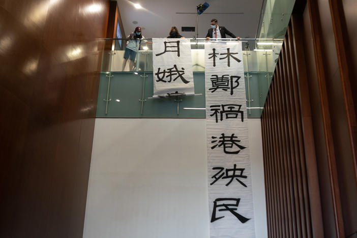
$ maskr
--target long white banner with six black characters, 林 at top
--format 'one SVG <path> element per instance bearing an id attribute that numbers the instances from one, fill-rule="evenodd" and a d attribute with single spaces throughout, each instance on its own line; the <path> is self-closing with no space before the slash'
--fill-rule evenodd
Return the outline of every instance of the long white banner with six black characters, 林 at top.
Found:
<path id="1" fill-rule="evenodd" d="M 255 237 L 241 42 L 205 45 L 211 237 Z"/>

